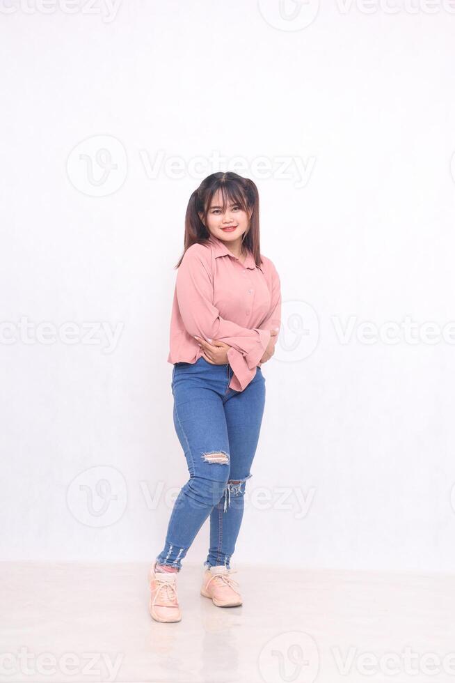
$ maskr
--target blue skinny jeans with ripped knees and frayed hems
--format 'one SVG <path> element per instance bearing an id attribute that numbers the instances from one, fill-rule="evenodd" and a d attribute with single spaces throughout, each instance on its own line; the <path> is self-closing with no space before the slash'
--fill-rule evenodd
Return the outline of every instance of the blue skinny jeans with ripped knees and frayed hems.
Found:
<path id="1" fill-rule="evenodd" d="M 231 389 L 231 378 L 229 363 L 214 365 L 202 356 L 195 363 L 174 364 L 174 425 L 190 478 L 175 500 L 157 562 L 177 571 L 209 515 L 210 547 L 204 567 L 230 569 L 266 393 L 260 367 L 244 391 Z"/>

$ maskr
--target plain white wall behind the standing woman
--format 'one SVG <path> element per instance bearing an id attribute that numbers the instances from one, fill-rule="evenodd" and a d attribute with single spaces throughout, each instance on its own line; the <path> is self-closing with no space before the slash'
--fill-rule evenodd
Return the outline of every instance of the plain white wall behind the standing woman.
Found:
<path id="1" fill-rule="evenodd" d="M 235 560 L 452 570 L 455 8 L 0 4 L 1 557 L 161 551 L 173 266 L 189 195 L 232 169 L 283 296 Z"/>

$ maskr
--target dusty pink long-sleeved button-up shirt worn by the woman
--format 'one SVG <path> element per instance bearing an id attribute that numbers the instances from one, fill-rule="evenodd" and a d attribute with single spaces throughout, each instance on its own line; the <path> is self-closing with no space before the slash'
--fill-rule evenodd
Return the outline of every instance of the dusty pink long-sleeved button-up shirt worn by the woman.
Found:
<path id="1" fill-rule="evenodd" d="M 261 367 L 270 330 L 280 328 L 280 277 L 270 259 L 258 268 L 248 251 L 242 264 L 225 244 L 211 235 L 207 244 L 193 244 L 177 269 L 170 319 L 168 362 L 195 363 L 202 355 L 194 335 L 218 339 L 232 348 L 231 389 L 243 391 Z M 278 335 L 272 337 L 276 344 Z"/>

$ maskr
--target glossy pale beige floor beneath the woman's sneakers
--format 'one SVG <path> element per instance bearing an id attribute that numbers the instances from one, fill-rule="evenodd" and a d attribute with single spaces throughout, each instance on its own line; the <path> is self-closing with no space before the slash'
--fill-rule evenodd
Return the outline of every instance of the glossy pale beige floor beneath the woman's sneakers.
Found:
<path id="1" fill-rule="evenodd" d="M 243 606 L 214 606 L 186 565 L 182 621 L 159 624 L 146 565 L 3 562 L 0 680 L 455 680 L 455 576 L 237 569 Z"/>

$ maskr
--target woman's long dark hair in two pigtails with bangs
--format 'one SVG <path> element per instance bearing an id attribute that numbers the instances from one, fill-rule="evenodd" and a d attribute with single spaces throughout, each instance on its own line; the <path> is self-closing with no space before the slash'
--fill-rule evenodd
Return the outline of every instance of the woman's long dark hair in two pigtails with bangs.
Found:
<path id="1" fill-rule="evenodd" d="M 232 201 L 232 204 L 237 204 L 248 214 L 253 209 L 250 227 L 242 235 L 242 248 L 246 247 L 246 249 L 252 252 L 256 266 L 261 265 L 259 192 L 257 192 L 257 187 L 250 178 L 243 178 L 237 175 L 237 173 L 227 171 L 226 173 L 212 173 L 211 176 L 207 176 L 200 183 L 198 189 L 194 190 L 193 194 L 191 194 L 185 215 L 184 252 L 180 256 L 175 268 L 179 268 L 186 250 L 191 245 L 208 242 L 211 233 L 200 220 L 199 214 L 202 213 L 204 220 L 207 221 L 211 199 L 218 190 L 221 190 L 221 196 L 223 197 L 223 211 L 225 211 L 228 201 Z"/>

